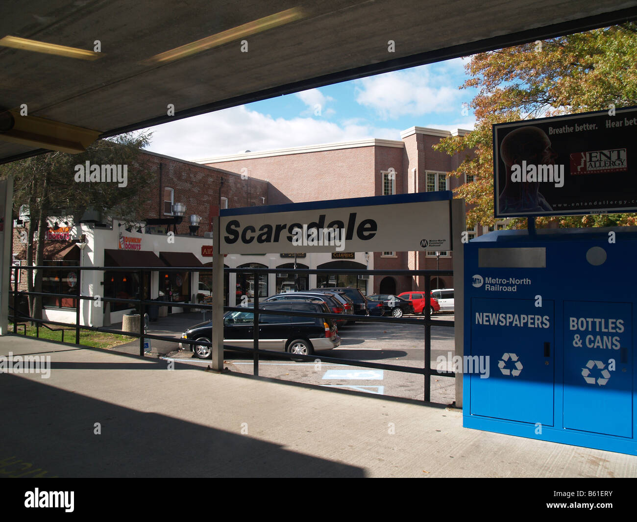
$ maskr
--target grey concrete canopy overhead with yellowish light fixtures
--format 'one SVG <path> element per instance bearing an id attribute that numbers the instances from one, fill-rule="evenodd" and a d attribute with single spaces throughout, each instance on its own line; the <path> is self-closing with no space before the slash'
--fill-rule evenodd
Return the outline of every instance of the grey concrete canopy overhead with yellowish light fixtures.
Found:
<path id="1" fill-rule="evenodd" d="M 0 107 L 26 104 L 29 116 L 108 137 L 634 19 L 637 0 L 22 0 L 0 7 L 0 39 L 90 52 L 99 40 L 101 54 L 78 59 L 0 40 Z M 41 152 L 0 134 L 0 163 Z"/>

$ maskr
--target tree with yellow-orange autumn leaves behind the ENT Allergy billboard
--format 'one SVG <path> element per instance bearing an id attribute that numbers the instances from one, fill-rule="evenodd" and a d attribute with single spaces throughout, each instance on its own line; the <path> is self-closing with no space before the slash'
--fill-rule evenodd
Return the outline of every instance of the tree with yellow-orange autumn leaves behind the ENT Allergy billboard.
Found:
<path id="1" fill-rule="evenodd" d="M 464 198 L 467 224 L 494 224 L 492 124 L 564 113 L 637 105 L 637 24 L 614 25 L 536 43 L 473 55 L 471 78 L 460 89 L 476 87 L 471 106 L 475 130 L 445 138 L 436 150 L 464 154 L 454 171 L 475 182 L 455 192 Z M 467 153 L 475 150 L 475 154 Z M 526 226 L 526 219 L 512 226 Z M 635 214 L 541 217 L 538 227 L 635 225 Z"/>

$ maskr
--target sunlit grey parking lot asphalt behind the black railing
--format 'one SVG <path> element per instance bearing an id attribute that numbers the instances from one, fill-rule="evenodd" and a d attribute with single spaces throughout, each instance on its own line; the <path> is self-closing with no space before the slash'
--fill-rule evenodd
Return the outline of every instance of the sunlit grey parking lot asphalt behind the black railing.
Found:
<path id="1" fill-rule="evenodd" d="M 207 315 L 210 317 L 210 314 Z M 422 319 L 422 315 L 408 316 Z M 202 313 L 172 314 L 151 322 L 148 333 L 179 338 L 182 331 L 203 321 Z M 434 321 L 453 321 L 449 313 L 434 314 Z M 423 323 L 424 324 L 424 323 Z M 115 326 L 114 326 L 115 327 Z M 116 327 L 115 327 L 116 328 Z M 424 400 L 422 375 L 378 370 L 355 363 L 322 362 L 321 356 L 357 361 L 375 361 L 389 365 L 424 366 L 424 326 L 358 322 L 339 327 L 341 346 L 315 354 L 314 362 L 295 362 L 275 356 L 260 355 L 259 375 L 285 381 L 316 384 L 331 388 L 354 389 L 377 395 Z M 209 361 L 197 359 L 192 352 L 179 351 L 176 342 L 151 340 L 152 354 L 168 360 L 206 367 Z M 432 326 L 431 367 L 439 356 L 454 354 L 454 328 Z M 130 354 L 139 353 L 137 341 L 113 348 Z M 252 354 L 225 351 L 225 366 L 237 373 L 253 375 Z M 451 405 L 455 401 L 454 377 L 431 377 L 431 402 Z"/>

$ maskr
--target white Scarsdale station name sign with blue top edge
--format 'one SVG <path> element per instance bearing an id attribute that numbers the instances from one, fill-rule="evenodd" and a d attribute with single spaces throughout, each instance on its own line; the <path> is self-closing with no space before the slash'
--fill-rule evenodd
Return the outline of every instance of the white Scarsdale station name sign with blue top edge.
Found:
<path id="1" fill-rule="evenodd" d="M 314 201 L 220 213 L 221 252 L 451 250 L 452 193 Z"/>

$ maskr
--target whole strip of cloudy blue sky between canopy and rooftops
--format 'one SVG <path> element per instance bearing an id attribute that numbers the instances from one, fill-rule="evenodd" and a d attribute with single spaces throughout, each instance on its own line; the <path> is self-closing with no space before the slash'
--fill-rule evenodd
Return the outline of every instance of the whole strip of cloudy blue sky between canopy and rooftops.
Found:
<path id="1" fill-rule="evenodd" d="M 413 126 L 473 129 L 464 61 L 328 85 L 152 127 L 148 150 L 190 161 L 251 150 L 384 138 Z"/>

